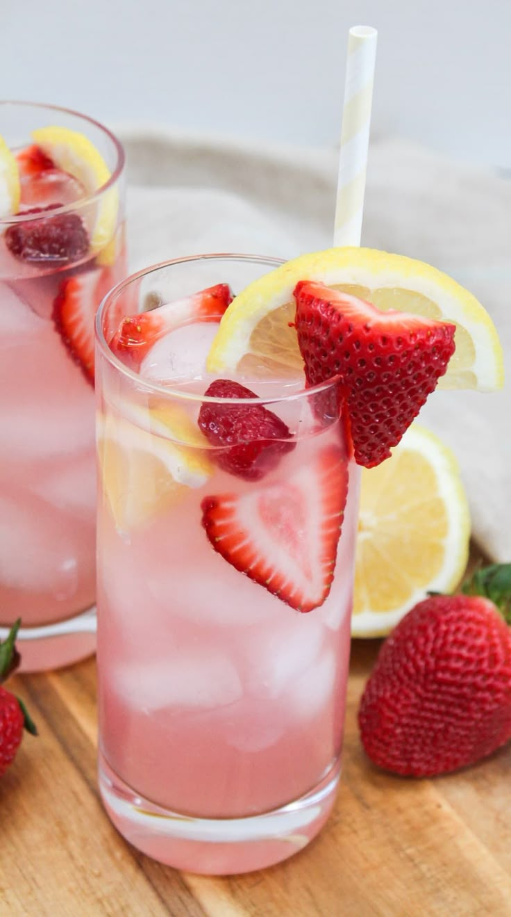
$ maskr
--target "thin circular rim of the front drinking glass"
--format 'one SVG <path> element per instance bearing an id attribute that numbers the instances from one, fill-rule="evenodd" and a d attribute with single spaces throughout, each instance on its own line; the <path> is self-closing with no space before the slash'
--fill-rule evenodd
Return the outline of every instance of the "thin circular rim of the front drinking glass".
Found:
<path id="1" fill-rule="evenodd" d="M 153 394 L 164 395 L 168 399 L 180 399 L 183 402 L 206 402 L 215 404 L 278 404 L 282 402 L 299 401 L 299 399 L 308 398 L 310 395 L 318 394 L 318 392 L 326 392 L 338 384 L 340 377 L 332 376 L 332 379 L 324 382 L 319 382 L 318 384 L 313 385 L 308 389 L 302 388 L 299 390 L 299 392 L 291 392 L 288 394 L 271 396 L 257 395 L 255 398 L 218 398 L 214 395 L 200 394 L 198 392 L 186 392 L 182 389 L 173 388 L 169 385 L 158 385 L 157 382 L 144 379 L 137 372 L 130 370 L 122 360 L 118 359 L 108 346 L 108 342 L 103 334 L 103 316 L 108 306 L 114 302 L 116 296 L 119 295 L 119 293 L 122 293 L 122 291 L 125 290 L 125 288 L 128 287 L 130 283 L 136 282 L 142 277 L 146 277 L 147 274 L 155 273 L 156 271 L 160 271 L 163 268 L 170 268 L 177 264 L 187 264 L 192 261 L 208 260 L 247 261 L 252 264 L 273 265 L 276 268 L 286 263 L 286 260 L 275 258 L 271 255 L 252 255 L 239 252 L 212 252 L 211 254 L 187 255 L 182 258 L 173 258 L 168 261 L 159 261 L 157 264 L 152 264 L 147 268 L 143 268 L 141 271 L 136 271 L 136 273 L 130 274 L 129 277 L 125 278 L 125 280 L 116 283 L 115 286 L 112 287 L 112 289 L 109 290 L 105 296 L 103 296 L 103 300 L 98 307 L 94 321 L 96 348 L 99 348 L 104 359 L 107 360 L 107 362 L 114 368 L 114 370 L 120 372 L 121 375 L 125 376 L 126 379 L 135 382 L 139 392 L 150 392 Z"/>

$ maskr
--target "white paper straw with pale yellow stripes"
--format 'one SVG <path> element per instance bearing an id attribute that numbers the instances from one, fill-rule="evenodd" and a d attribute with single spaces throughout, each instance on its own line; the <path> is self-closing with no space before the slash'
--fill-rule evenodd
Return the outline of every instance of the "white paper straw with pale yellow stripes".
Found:
<path id="1" fill-rule="evenodd" d="M 333 231 L 335 246 L 360 245 L 377 34 L 375 28 L 353 26 L 348 38 Z"/>

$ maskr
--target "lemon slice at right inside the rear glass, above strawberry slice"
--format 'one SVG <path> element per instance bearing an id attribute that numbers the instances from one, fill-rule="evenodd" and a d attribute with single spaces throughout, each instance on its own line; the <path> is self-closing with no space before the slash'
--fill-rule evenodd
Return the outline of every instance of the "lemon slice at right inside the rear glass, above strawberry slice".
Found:
<path id="1" fill-rule="evenodd" d="M 91 140 L 69 127 L 39 127 L 32 137 L 44 153 L 62 171 L 81 182 L 93 194 L 108 182 L 111 171 Z M 98 204 L 91 234 L 91 249 L 101 252 L 102 264 L 115 260 L 114 234 L 117 224 L 119 195 L 116 188 L 103 192 Z"/>

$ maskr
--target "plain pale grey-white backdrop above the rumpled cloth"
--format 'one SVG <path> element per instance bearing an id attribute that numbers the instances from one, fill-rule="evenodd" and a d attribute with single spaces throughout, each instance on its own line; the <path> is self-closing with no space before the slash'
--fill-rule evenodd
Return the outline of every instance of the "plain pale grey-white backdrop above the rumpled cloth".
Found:
<path id="1" fill-rule="evenodd" d="M 358 24 L 379 30 L 374 136 L 511 168 L 511 0 L 0 0 L 0 93 L 332 145 Z"/>

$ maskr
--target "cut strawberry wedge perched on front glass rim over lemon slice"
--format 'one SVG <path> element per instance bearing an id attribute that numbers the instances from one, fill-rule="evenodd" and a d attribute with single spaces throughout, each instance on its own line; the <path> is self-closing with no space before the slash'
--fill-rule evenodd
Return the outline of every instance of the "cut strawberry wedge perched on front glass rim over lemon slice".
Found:
<path id="1" fill-rule="evenodd" d="M 390 456 L 454 353 L 455 326 L 380 312 L 324 283 L 295 289 L 299 348 L 310 385 L 339 376 L 353 450 L 366 468 Z"/>

